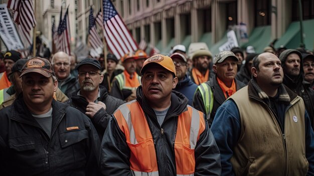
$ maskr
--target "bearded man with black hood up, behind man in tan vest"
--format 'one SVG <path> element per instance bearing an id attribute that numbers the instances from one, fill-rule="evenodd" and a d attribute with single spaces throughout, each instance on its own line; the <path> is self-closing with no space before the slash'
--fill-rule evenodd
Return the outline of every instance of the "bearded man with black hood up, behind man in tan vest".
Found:
<path id="1" fill-rule="evenodd" d="M 311 119 L 312 128 L 314 127 L 314 90 L 310 89 L 310 84 L 303 79 L 303 60 L 299 51 L 288 49 L 284 50 L 279 59 L 284 73 L 283 84 L 290 90 L 302 97 L 305 109 Z"/>

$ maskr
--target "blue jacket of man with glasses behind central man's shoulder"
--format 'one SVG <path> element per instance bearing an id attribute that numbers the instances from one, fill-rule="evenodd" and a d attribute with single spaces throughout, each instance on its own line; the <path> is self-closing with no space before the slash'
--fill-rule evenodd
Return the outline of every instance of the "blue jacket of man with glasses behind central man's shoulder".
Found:
<path id="1" fill-rule="evenodd" d="M 188 98 L 188 104 L 192 106 L 193 96 L 197 85 L 191 81 L 191 79 L 186 75 L 182 81 L 179 81 L 175 91 L 182 93 L 184 96 Z"/>

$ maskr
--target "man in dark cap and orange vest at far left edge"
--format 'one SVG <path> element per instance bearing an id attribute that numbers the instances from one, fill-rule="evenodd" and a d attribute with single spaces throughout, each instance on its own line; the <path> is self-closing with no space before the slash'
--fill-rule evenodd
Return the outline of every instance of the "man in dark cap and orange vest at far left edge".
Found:
<path id="1" fill-rule="evenodd" d="M 8 76 L 11 73 L 11 68 L 13 67 L 14 63 L 17 62 L 19 59 L 21 59 L 21 53 L 17 51 L 8 51 L 5 54 L 4 62 L 6 71 L 0 79 L 0 90 L 8 88 L 12 85 Z"/>

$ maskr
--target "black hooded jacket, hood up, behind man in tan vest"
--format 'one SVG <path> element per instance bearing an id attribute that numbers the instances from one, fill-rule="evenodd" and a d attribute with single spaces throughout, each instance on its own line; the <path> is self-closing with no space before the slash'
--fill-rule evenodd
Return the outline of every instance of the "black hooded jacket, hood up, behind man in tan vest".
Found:
<path id="1" fill-rule="evenodd" d="M 286 85 L 291 91 L 296 93 L 298 96 L 302 97 L 305 104 L 305 109 L 308 113 L 309 118 L 311 119 L 311 126 L 314 129 L 314 90 L 309 87 L 310 84 L 307 81 L 304 81 L 302 55 L 297 50 L 288 49 L 284 50 L 280 54 L 279 59 L 281 61 L 282 69 L 284 70 L 285 61 L 287 60 L 287 57 L 292 53 L 297 54 L 300 58 L 300 73 L 294 80 L 292 80 L 289 77 L 289 75 L 284 74 L 283 84 Z"/>

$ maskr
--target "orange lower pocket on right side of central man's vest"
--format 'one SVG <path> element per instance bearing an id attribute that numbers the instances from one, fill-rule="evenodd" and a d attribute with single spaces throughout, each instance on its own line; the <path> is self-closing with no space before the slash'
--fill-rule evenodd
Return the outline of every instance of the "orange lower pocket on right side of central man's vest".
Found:
<path id="1" fill-rule="evenodd" d="M 175 143 L 177 174 L 192 174 L 195 171 L 194 149 L 189 144 Z"/>

